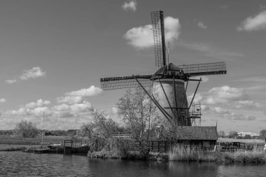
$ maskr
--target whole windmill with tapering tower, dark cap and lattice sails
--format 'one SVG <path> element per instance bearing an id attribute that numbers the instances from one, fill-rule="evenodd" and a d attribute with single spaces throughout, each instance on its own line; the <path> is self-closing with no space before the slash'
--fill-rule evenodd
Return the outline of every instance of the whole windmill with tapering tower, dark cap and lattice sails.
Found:
<path id="1" fill-rule="evenodd" d="M 155 64 L 160 69 L 154 74 L 101 78 L 102 89 L 116 90 L 140 86 L 158 107 L 162 115 L 162 124 L 165 127 L 169 124 L 191 126 L 192 122 L 195 122 L 196 116 L 190 114 L 189 110 L 202 80 L 202 78 L 196 79 L 193 77 L 225 74 L 225 62 L 183 64 L 179 66 L 172 63 L 168 64 L 166 59 L 163 12 L 152 12 L 151 20 L 153 24 Z M 186 97 L 189 81 L 198 82 L 190 104 L 188 104 Z M 145 87 L 153 87 L 153 93 L 149 94 Z M 155 92 L 157 97 L 154 97 Z"/>

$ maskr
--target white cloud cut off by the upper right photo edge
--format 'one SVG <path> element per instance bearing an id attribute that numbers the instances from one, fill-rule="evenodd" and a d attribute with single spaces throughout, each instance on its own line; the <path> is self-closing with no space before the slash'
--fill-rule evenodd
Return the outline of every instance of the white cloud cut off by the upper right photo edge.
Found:
<path id="1" fill-rule="evenodd" d="M 258 31 L 262 29 L 266 29 L 266 10 L 247 17 L 246 20 L 241 22 L 237 27 L 237 31 Z"/>

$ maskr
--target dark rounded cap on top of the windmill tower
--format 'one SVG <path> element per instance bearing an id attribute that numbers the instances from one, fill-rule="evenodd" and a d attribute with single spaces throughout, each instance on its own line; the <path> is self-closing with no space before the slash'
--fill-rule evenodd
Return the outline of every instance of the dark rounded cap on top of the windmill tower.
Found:
<path id="1" fill-rule="evenodd" d="M 151 78 L 158 79 L 158 76 L 159 78 L 173 78 L 173 76 L 175 76 L 175 78 L 179 78 L 180 76 L 183 76 L 183 71 L 179 68 L 179 66 L 170 63 L 158 69 Z"/>

